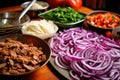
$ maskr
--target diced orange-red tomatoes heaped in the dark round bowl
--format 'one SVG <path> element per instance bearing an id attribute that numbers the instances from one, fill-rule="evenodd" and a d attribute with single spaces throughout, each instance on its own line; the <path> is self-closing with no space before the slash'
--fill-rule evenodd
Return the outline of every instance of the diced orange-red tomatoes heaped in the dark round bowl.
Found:
<path id="1" fill-rule="evenodd" d="M 98 28 L 115 28 L 120 26 L 120 18 L 112 13 L 98 13 L 87 17 L 87 21 Z"/>

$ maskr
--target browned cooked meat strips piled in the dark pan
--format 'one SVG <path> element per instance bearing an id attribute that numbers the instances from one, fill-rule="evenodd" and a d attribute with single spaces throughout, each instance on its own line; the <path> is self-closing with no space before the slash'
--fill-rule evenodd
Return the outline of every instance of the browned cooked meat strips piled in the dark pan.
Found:
<path id="1" fill-rule="evenodd" d="M 37 68 L 44 61 L 46 55 L 33 44 L 23 44 L 11 38 L 0 42 L 0 73 L 24 73 Z"/>

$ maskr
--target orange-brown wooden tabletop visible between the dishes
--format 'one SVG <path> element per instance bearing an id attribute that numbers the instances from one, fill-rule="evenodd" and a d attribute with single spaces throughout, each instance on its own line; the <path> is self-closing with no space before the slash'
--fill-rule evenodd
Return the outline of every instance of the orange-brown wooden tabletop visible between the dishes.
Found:
<path id="1" fill-rule="evenodd" d="M 7 8 L 0 8 L 0 12 L 13 12 L 13 11 L 22 11 L 22 8 L 20 6 L 12 6 Z M 92 10 L 86 7 L 81 7 L 81 12 L 87 14 L 91 12 Z M 4 79 L 2 79 L 4 78 Z M 26 76 L 20 76 L 17 78 L 13 77 L 0 77 L 0 80 L 65 80 L 65 78 L 60 75 L 50 63 L 45 65 L 42 69 L 37 70 L 36 72 L 26 75 Z M 7 78 L 7 79 L 6 79 Z"/>

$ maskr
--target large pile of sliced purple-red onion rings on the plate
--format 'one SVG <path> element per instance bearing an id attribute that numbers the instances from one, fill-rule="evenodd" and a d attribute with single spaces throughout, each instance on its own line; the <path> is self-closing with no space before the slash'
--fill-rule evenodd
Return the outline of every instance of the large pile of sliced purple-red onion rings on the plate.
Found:
<path id="1" fill-rule="evenodd" d="M 120 80 L 120 44 L 114 40 L 71 28 L 56 34 L 50 47 L 56 65 L 67 69 L 73 80 Z"/>

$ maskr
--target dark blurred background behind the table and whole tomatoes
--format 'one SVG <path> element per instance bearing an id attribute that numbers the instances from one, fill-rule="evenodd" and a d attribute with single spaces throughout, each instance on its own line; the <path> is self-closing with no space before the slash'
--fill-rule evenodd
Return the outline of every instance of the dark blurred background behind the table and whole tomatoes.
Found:
<path id="1" fill-rule="evenodd" d="M 14 6 L 14 5 L 21 5 L 25 1 L 31 1 L 31 0 L 0 0 L 0 8 Z M 46 1 L 46 0 L 38 0 L 38 1 Z M 94 1 L 97 1 L 97 3 L 94 3 Z M 99 1 L 100 0 L 83 0 L 83 5 L 94 10 L 103 9 L 103 10 L 109 10 L 120 13 L 120 0 L 101 0 L 104 1 L 102 4 L 99 3 Z M 88 4 L 91 6 L 89 6 Z M 102 6 L 98 8 L 98 5 L 102 5 Z"/>

